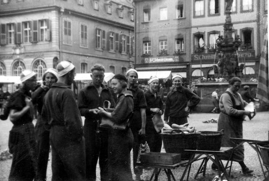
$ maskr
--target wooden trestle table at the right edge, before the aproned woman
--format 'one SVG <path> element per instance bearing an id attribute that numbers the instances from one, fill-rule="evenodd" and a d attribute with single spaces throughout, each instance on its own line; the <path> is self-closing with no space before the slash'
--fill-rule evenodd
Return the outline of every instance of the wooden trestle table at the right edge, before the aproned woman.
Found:
<path id="1" fill-rule="evenodd" d="M 247 142 L 256 151 L 256 153 L 258 155 L 259 162 L 260 162 L 261 170 L 262 170 L 263 175 L 265 177 L 266 171 L 264 171 L 263 166 L 262 166 L 260 150 L 259 150 L 258 146 L 263 146 L 265 144 L 269 144 L 269 140 L 268 141 L 267 140 L 260 141 L 260 140 L 234 138 L 234 137 L 231 137 L 230 140 L 234 142 L 234 146 L 232 148 L 232 154 L 233 154 L 234 150 L 236 150 L 238 147 L 240 147 L 244 142 Z M 232 165 L 232 160 L 231 160 L 231 165 Z M 231 167 L 229 170 L 229 175 L 230 175 L 230 172 L 231 172 Z"/>

